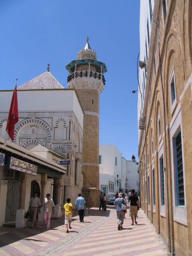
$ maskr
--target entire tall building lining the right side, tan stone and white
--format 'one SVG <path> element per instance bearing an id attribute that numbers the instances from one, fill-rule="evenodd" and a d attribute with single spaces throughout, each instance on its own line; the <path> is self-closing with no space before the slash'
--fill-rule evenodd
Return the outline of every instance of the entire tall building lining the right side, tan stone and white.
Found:
<path id="1" fill-rule="evenodd" d="M 140 1 L 141 206 L 172 255 L 192 255 L 192 1 Z"/>

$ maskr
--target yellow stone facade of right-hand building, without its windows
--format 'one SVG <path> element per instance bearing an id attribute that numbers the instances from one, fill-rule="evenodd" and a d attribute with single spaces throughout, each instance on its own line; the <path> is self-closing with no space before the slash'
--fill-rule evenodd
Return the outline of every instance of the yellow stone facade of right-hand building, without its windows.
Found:
<path id="1" fill-rule="evenodd" d="M 158 1 L 155 1 L 158 2 Z M 158 10 L 160 14 L 161 6 Z M 156 40 L 157 42 L 157 29 Z M 171 251 L 178 256 L 192 255 L 192 1 L 191 0 L 167 0 L 167 14 L 165 23 L 162 13 L 160 14 L 160 58 L 162 66 L 162 82 L 165 96 L 166 112 L 166 137 L 164 134 L 164 112 L 163 112 L 163 94 L 160 79 L 160 69 L 158 61 L 158 45 L 156 44 L 154 56 L 156 59 L 156 74 L 154 68 L 148 70 L 147 78 L 150 77 L 150 92 L 145 95 L 147 102 L 146 111 L 146 130 L 142 131 L 139 144 L 140 159 L 140 186 L 141 186 L 141 204 L 142 208 L 153 222 L 156 230 L 161 234 L 167 245 L 168 225 L 170 225 L 170 244 Z M 149 51 L 152 50 L 150 46 Z M 148 60 L 149 63 L 153 61 Z M 169 79 L 174 66 L 175 85 L 176 85 L 176 106 L 171 112 L 170 108 L 170 88 Z M 170 126 L 175 119 L 178 121 L 177 113 L 181 110 L 181 128 L 182 128 L 182 154 L 185 175 L 185 204 L 187 222 L 182 224 L 174 220 L 174 196 L 173 196 L 173 157 L 171 152 L 172 138 L 170 137 Z M 158 116 L 160 114 L 161 139 L 158 136 Z M 152 138 L 154 144 L 154 153 L 152 154 Z M 163 146 L 164 167 L 166 167 L 167 152 L 167 170 L 164 172 L 165 184 L 165 215 L 160 214 L 160 177 L 159 177 L 159 157 L 160 146 Z M 165 146 L 166 145 L 166 146 Z M 147 160 L 148 155 L 148 160 Z M 155 170 L 155 210 L 153 211 L 152 198 L 152 166 Z M 148 172 L 148 174 L 147 174 Z M 150 177 L 150 208 L 148 208 L 148 188 L 147 175 Z M 168 190 L 166 189 L 168 181 Z M 168 203 L 169 200 L 169 203 Z M 169 209 L 168 209 L 169 205 Z M 182 207 L 182 206 L 181 206 Z M 169 215 L 169 224 L 168 224 Z"/>

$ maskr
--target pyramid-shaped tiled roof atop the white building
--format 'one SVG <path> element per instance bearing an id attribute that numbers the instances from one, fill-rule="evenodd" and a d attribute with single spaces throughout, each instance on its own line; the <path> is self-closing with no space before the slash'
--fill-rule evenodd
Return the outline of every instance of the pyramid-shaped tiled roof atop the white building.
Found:
<path id="1" fill-rule="evenodd" d="M 64 89 L 64 87 L 54 78 L 54 76 L 46 71 L 40 76 L 33 78 L 29 82 L 19 86 L 17 90 L 55 90 Z"/>

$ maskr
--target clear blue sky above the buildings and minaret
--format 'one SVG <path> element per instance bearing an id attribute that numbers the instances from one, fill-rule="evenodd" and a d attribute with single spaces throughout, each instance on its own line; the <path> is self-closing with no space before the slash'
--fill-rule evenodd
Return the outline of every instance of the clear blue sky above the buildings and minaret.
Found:
<path id="1" fill-rule="evenodd" d="M 0 90 L 46 71 L 67 88 L 65 66 L 86 36 L 108 69 L 100 94 L 100 144 L 115 144 L 127 160 L 138 152 L 136 62 L 139 0 L 0 0 Z M 137 158 L 137 157 L 136 157 Z M 137 158 L 138 159 L 138 158 Z"/>

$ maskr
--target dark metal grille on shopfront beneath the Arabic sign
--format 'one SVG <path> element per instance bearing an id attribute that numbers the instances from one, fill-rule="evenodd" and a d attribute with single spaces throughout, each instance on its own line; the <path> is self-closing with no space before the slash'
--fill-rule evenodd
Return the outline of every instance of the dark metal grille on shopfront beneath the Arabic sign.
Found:
<path id="1" fill-rule="evenodd" d="M 16 212 L 20 202 L 20 182 L 9 180 L 7 184 L 7 200 L 5 210 L 5 223 L 16 221 Z"/>

